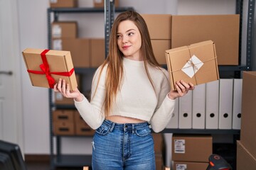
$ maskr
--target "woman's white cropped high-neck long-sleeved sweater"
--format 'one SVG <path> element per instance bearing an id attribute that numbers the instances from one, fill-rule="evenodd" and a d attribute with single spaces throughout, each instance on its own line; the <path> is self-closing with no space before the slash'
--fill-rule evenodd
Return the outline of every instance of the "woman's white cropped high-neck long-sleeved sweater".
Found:
<path id="1" fill-rule="evenodd" d="M 169 73 L 166 69 L 161 69 L 161 72 L 159 69 L 149 66 L 149 74 L 154 84 L 153 88 L 146 75 L 144 62 L 129 60 L 124 57 L 123 64 L 124 78 L 122 86 L 115 103 L 112 105 L 110 115 L 121 115 L 148 121 L 154 132 L 164 130 L 171 120 L 175 104 L 175 100 L 171 100 L 167 95 L 170 91 Z M 95 94 L 100 76 L 99 70 L 97 69 L 92 80 L 92 96 Z M 105 120 L 103 106 L 105 78 L 106 67 L 102 71 L 96 94 L 92 97 L 92 100 L 89 102 L 84 97 L 80 102 L 75 101 L 75 107 L 92 129 L 99 128 Z"/>

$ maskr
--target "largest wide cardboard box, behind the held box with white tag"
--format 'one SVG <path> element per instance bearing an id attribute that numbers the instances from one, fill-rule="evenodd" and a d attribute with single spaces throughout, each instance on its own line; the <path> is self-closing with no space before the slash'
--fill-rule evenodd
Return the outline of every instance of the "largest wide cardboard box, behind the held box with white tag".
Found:
<path id="1" fill-rule="evenodd" d="M 219 65 L 237 65 L 239 15 L 172 16 L 171 48 L 196 42 L 215 42 Z"/>

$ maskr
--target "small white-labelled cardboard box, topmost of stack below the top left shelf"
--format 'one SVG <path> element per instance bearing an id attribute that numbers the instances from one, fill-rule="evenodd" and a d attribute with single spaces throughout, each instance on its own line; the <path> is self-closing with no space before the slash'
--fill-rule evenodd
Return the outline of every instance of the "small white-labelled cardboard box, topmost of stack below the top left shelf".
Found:
<path id="1" fill-rule="evenodd" d="M 77 21 L 58 21 L 52 23 L 52 38 L 77 38 Z"/>

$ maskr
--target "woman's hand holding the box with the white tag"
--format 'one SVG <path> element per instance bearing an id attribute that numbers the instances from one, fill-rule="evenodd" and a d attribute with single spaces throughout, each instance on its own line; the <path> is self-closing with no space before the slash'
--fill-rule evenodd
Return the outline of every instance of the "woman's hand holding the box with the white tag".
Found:
<path id="1" fill-rule="evenodd" d="M 185 81 L 176 81 L 176 90 L 171 90 L 168 94 L 168 97 L 171 99 L 175 99 L 178 97 L 182 97 L 188 93 L 189 90 L 195 89 L 195 86 L 192 83 L 186 83 Z"/>

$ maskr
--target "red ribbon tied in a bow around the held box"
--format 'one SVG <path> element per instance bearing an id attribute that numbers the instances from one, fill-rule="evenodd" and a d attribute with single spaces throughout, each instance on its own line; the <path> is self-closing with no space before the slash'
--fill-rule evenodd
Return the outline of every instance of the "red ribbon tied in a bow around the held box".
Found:
<path id="1" fill-rule="evenodd" d="M 28 69 L 28 72 L 33 73 L 33 74 L 46 74 L 46 79 L 48 81 L 50 89 L 53 89 L 55 79 L 53 79 L 53 77 L 51 77 L 50 74 L 70 77 L 74 72 L 74 68 L 71 69 L 70 72 L 50 72 L 50 67 L 49 67 L 49 64 L 48 64 L 47 59 L 46 59 L 46 53 L 48 51 L 49 50 L 43 50 L 43 52 L 41 52 L 41 58 L 42 58 L 43 64 L 40 64 L 39 67 L 41 68 L 42 72 L 41 71 L 30 70 L 30 69 Z"/>

